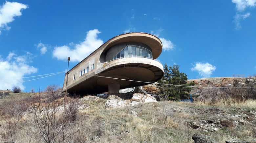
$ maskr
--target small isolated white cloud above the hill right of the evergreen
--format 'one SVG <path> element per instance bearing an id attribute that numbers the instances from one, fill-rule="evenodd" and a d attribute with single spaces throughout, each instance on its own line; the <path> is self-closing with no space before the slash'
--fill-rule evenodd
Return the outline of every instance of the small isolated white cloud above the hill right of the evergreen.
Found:
<path id="1" fill-rule="evenodd" d="M 209 78 L 213 71 L 215 71 L 216 67 L 206 63 L 197 62 L 196 65 L 194 65 L 193 68 L 191 68 L 191 71 L 198 71 L 198 73 L 203 78 Z"/>

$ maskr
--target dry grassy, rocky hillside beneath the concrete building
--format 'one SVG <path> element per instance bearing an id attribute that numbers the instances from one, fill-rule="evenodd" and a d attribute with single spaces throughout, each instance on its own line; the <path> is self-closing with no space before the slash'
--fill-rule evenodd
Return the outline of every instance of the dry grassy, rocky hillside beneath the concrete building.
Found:
<path id="1" fill-rule="evenodd" d="M 198 82 L 195 86 L 222 86 L 227 79 L 246 81 L 245 78 L 209 78 L 188 82 Z M 157 90 L 154 85 L 149 87 Z M 131 105 L 133 99 L 85 96 L 67 98 L 64 110 L 63 94 L 59 91 L 8 91 L 8 95 L 6 92 L 0 91 L 0 142 L 194 143 L 193 135 L 194 139 L 196 135 L 207 135 L 219 143 L 232 138 L 256 143 L 255 100 L 236 103 L 229 99 L 214 104 L 207 100 L 201 103 L 162 101 Z M 150 97 L 136 95 L 141 99 Z M 108 106 L 110 100 L 126 104 L 113 108 Z"/>

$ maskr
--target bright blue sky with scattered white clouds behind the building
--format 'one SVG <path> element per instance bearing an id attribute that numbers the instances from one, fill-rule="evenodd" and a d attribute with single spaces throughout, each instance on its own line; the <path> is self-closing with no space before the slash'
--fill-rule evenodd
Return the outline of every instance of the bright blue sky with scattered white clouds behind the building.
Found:
<path id="1" fill-rule="evenodd" d="M 158 60 L 188 79 L 253 75 L 255 7 L 256 0 L 0 0 L 0 89 L 62 87 L 68 56 L 71 69 L 126 32 L 158 36 Z"/>

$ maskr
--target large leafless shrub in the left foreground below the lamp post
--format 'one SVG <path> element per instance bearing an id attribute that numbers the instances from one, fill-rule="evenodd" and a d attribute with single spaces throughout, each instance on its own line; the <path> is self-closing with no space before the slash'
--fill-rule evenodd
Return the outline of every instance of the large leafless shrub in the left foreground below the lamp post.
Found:
<path id="1" fill-rule="evenodd" d="M 38 135 L 46 143 L 65 142 L 67 138 L 79 131 L 75 122 L 78 114 L 77 104 L 78 102 L 69 100 L 68 108 L 64 111 L 55 102 L 42 103 L 40 96 L 34 97 L 31 105 L 32 113 L 26 120 L 30 126 L 28 134 Z"/>

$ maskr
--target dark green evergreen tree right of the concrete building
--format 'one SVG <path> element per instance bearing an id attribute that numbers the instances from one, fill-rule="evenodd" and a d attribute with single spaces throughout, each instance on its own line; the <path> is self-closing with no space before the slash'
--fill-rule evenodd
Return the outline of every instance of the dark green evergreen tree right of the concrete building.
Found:
<path id="1" fill-rule="evenodd" d="M 180 72 L 179 65 L 173 65 L 173 67 L 168 67 L 167 64 L 164 64 L 164 75 L 158 81 L 161 84 L 168 85 L 158 85 L 160 88 L 160 96 L 168 100 L 179 100 L 189 98 L 189 92 L 191 91 L 190 87 L 181 87 L 181 86 L 170 86 L 170 85 L 182 85 L 182 86 L 191 86 L 192 84 L 187 84 L 187 75 L 184 72 Z"/>

